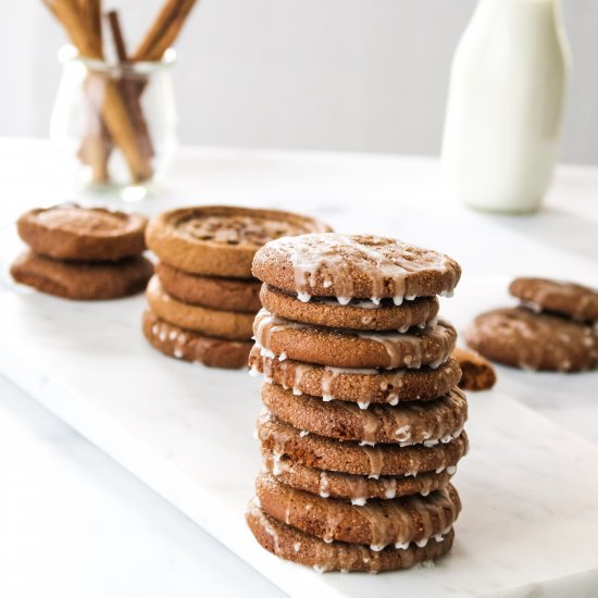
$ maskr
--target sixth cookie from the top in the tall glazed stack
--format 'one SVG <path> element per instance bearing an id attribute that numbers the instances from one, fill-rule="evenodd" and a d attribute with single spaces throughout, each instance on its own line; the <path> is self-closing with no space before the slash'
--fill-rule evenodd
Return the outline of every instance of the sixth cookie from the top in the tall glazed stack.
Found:
<path id="1" fill-rule="evenodd" d="M 465 433 L 447 444 L 432 447 L 411 445 L 361 446 L 359 443 L 339 443 L 315 434 L 304 434 L 274 418 L 262 414 L 258 420 L 258 437 L 262 447 L 316 470 L 353 475 L 407 475 L 419 472 L 437 473 L 457 465 L 468 451 Z"/>

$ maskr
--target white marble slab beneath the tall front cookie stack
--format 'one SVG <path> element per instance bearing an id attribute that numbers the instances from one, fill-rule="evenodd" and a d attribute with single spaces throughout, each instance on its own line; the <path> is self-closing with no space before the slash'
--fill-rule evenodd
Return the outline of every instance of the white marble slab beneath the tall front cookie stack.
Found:
<path id="1" fill-rule="evenodd" d="M 471 300 L 465 290 L 459 303 Z M 139 329 L 142 303 L 2 292 L 0 367 L 291 596 L 598 587 L 598 446 L 499 391 L 471 399 L 472 450 L 456 477 L 463 513 L 453 551 L 434 569 L 319 575 L 272 557 L 244 521 L 260 465 L 259 382 L 155 352 Z"/>

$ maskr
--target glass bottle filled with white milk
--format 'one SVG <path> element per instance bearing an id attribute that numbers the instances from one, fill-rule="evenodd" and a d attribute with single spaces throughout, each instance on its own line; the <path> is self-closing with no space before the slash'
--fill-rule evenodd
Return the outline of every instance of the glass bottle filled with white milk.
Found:
<path id="1" fill-rule="evenodd" d="M 452 62 L 443 162 L 454 195 L 531 212 L 558 155 L 570 53 L 559 0 L 479 0 Z"/>

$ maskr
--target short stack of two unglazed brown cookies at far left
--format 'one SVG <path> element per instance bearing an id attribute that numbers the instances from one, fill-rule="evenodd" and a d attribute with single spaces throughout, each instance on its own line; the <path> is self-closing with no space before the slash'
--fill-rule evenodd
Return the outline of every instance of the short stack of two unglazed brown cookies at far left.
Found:
<path id="1" fill-rule="evenodd" d="M 12 277 L 66 299 L 115 299 L 140 292 L 153 266 L 141 256 L 147 220 L 76 204 L 32 210 L 17 221 L 30 250 L 16 259 Z"/>

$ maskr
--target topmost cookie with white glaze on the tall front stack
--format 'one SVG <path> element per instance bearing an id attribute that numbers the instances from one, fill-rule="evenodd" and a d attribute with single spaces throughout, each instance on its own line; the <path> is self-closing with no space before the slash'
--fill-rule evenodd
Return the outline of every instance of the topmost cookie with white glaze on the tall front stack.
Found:
<path id="1" fill-rule="evenodd" d="M 310 297 L 403 299 L 450 295 L 459 264 L 437 251 L 371 235 L 310 234 L 282 238 L 260 249 L 253 275 L 270 286 Z"/>

